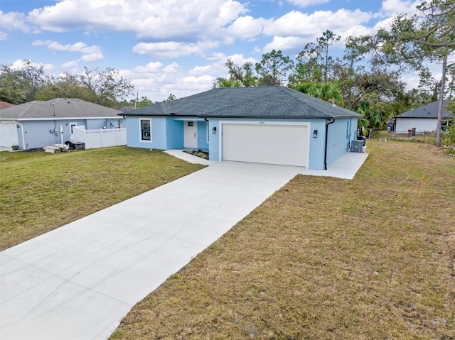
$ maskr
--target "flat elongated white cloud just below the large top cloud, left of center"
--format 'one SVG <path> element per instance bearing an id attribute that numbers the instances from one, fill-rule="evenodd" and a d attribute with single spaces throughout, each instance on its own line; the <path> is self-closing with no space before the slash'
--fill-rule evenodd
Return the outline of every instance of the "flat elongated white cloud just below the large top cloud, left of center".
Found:
<path id="1" fill-rule="evenodd" d="M 176 58 L 183 55 L 195 55 L 204 50 L 215 48 L 218 43 L 205 41 L 199 43 L 178 43 L 168 41 L 166 43 L 139 43 L 133 48 L 134 53 L 139 55 L 151 55 L 159 58 Z"/>

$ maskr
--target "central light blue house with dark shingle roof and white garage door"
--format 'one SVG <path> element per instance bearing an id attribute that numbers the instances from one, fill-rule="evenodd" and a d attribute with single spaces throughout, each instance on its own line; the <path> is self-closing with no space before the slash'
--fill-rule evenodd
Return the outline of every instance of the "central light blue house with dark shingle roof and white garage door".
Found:
<path id="1" fill-rule="evenodd" d="M 349 150 L 360 116 L 277 86 L 211 89 L 122 115 L 134 148 L 202 149 L 210 160 L 316 170 Z"/>

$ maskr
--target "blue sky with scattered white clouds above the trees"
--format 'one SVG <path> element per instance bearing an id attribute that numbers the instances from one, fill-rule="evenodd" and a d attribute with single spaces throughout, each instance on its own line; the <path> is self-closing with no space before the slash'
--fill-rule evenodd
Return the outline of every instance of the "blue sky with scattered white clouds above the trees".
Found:
<path id="1" fill-rule="evenodd" d="M 55 76 L 112 67 L 134 85 L 128 100 L 157 102 L 211 89 L 228 57 L 255 63 L 274 49 L 294 59 L 326 30 L 341 35 L 333 53 L 342 56 L 348 36 L 387 28 L 419 2 L 0 0 L 0 65 L 30 59 Z"/>

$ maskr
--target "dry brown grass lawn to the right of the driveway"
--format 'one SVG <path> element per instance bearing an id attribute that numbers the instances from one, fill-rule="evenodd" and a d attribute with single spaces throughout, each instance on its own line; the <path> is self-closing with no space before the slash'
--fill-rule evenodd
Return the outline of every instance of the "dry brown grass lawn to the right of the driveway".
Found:
<path id="1" fill-rule="evenodd" d="M 368 152 L 354 180 L 291 180 L 112 339 L 455 339 L 455 159 Z"/>

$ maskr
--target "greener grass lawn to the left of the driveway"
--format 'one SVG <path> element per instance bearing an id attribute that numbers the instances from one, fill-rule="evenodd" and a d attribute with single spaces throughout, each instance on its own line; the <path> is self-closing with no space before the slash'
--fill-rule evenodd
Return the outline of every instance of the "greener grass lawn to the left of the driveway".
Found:
<path id="1" fill-rule="evenodd" d="M 0 152 L 0 249 L 201 168 L 139 148 Z"/>

